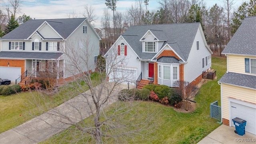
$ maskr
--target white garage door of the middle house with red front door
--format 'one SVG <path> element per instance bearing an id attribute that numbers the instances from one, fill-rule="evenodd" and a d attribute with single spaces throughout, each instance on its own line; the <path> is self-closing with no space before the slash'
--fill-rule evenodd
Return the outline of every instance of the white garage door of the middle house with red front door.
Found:
<path id="1" fill-rule="evenodd" d="M 110 82 L 121 82 L 123 84 L 136 84 L 136 69 L 116 69 L 109 76 Z"/>

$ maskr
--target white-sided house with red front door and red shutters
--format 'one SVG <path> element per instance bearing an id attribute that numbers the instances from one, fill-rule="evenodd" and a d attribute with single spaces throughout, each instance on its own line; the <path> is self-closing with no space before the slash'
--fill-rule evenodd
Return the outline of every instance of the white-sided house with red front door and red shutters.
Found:
<path id="1" fill-rule="evenodd" d="M 170 87 L 177 80 L 197 84 L 202 72 L 211 69 L 212 51 L 200 23 L 130 26 L 106 58 L 113 53 L 124 59 L 120 60 L 122 73 L 131 72 L 127 81 L 139 82 L 138 88 L 150 81 Z M 109 76 L 110 81 L 124 75 L 120 67 L 117 69 Z"/>

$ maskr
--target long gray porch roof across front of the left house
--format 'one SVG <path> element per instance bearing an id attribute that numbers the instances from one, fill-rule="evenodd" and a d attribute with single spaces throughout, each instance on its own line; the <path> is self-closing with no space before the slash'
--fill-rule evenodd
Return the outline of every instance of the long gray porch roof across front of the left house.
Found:
<path id="1" fill-rule="evenodd" d="M 0 52 L 0 58 L 24 58 L 24 59 L 58 59 L 62 56 L 61 52 Z"/>

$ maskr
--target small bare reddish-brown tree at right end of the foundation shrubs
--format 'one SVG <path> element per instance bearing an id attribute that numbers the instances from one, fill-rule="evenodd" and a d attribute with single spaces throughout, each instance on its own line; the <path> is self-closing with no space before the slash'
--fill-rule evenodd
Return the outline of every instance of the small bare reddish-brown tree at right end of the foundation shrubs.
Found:
<path id="1" fill-rule="evenodd" d="M 185 102 L 185 109 L 189 110 L 188 103 L 193 100 L 198 92 L 198 87 L 188 81 L 178 80 L 174 82 L 177 93 L 182 96 L 182 100 Z"/>

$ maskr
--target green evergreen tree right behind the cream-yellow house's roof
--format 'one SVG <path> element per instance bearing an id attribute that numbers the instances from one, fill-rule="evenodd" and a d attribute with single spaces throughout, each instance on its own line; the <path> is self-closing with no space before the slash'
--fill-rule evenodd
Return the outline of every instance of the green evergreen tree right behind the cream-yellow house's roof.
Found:
<path id="1" fill-rule="evenodd" d="M 234 12 L 234 18 L 232 18 L 230 24 L 232 35 L 234 35 L 246 16 L 256 16 L 256 0 L 250 0 L 249 3 L 242 3 L 238 10 Z"/>

